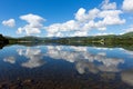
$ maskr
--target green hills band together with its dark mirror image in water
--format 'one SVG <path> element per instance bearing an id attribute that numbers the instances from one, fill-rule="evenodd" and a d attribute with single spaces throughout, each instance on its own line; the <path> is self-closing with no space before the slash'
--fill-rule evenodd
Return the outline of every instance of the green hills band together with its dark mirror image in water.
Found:
<path id="1" fill-rule="evenodd" d="M 91 36 L 91 37 L 68 37 L 68 38 L 39 38 L 39 37 L 21 37 L 11 38 L 0 34 L 0 44 L 23 44 L 23 46 L 38 46 L 38 44 L 66 44 L 66 46 L 96 46 L 96 47 L 121 47 L 133 50 L 133 32 L 115 36 Z M 0 46 L 2 48 L 3 46 Z"/>

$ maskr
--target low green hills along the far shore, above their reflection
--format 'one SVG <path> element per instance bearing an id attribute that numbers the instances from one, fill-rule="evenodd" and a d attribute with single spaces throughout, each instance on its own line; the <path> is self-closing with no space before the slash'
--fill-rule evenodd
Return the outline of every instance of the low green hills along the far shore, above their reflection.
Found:
<path id="1" fill-rule="evenodd" d="M 68 37 L 68 38 L 40 38 L 40 37 L 6 37 L 10 43 L 32 42 L 32 43 L 63 43 L 63 44 L 88 44 L 88 43 L 133 43 L 133 32 L 115 36 L 91 36 L 91 37 Z M 129 41 L 130 40 L 130 41 Z"/>

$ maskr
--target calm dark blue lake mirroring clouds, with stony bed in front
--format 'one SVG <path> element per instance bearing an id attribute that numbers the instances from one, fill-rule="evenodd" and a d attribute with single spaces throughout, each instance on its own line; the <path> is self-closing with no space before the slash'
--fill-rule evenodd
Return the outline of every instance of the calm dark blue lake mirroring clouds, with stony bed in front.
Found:
<path id="1" fill-rule="evenodd" d="M 133 89 L 133 51 L 7 46 L 0 49 L 0 89 Z"/>

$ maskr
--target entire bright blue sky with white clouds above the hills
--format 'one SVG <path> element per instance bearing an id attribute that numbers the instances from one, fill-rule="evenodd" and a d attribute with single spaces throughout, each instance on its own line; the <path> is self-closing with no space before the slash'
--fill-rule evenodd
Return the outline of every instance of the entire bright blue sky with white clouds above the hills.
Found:
<path id="1" fill-rule="evenodd" d="M 131 3 L 133 0 L 1 0 L 0 33 L 10 37 L 121 34 L 133 31 Z"/>

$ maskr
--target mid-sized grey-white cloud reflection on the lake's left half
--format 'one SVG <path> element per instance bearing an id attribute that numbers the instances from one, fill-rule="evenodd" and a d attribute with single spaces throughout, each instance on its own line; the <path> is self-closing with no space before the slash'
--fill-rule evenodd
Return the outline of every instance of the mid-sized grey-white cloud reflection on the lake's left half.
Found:
<path id="1" fill-rule="evenodd" d="M 42 65 L 44 65 L 43 60 L 43 53 L 41 53 L 41 50 L 35 48 L 27 48 L 27 49 L 18 49 L 17 50 L 20 56 L 24 56 L 29 60 L 27 62 L 23 62 L 21 66 L 25 68 L 37 68 Z"/>

